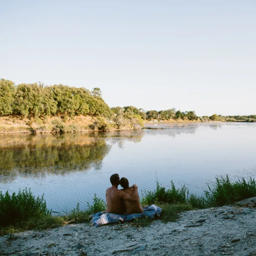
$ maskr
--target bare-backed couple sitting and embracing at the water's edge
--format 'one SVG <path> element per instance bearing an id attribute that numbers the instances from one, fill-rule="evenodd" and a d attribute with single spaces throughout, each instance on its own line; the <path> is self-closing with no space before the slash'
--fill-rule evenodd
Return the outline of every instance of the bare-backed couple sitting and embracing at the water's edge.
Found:
<path id="1" fill-rule="evenodd" d="M 143 212 L 136 184 L 129 187 L 129 181 L 126 178 L 120 180 L 118 174 L 113 174 L 110 182 L 112 187 L 106 189 L 106 213 L 130 215 Z M 118 185 L 123 189 L 118 189 Z"/>

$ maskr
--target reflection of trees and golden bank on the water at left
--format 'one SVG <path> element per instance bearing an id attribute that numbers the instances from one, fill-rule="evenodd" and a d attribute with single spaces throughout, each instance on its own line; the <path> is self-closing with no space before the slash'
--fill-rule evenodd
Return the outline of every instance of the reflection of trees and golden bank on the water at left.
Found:
<path id="1" fill-rule="evenodd" d="M 113 144 L 140 141 L 143 131 L 0 136 L 0 182 L 101 168 Z M 109 142 L 109 143 L 108 143 Z"/>

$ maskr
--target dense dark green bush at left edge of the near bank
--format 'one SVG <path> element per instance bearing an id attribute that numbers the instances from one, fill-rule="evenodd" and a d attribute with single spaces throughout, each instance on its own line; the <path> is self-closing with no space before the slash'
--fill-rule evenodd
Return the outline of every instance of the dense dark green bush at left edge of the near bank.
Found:
<path id="1" fill-rule="evenodd" d="M 19 190 L 18 194 L 5 195 L 0 192 L 0 226 L 15 225 L 20 221 L 26 221 L 31 217 L 51 215 L 46 208 L 44 195 L 35 197 L 30 189 Z"/>

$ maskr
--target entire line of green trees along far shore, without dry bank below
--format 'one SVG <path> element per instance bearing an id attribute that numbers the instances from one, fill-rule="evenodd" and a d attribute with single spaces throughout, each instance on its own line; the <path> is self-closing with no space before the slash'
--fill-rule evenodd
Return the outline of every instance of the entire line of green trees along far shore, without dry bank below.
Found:
<path id="1" fill-rule="evenodd" d="M 175 108 L 168 110 L 137 109 L 135 106 L 117 106 L 110 108 L 102 99 L 99 88 L 92 91 L 62 84 L 45 86 L 43 83 L 21 83 L 15 86 L 10 80 L 0 79 L 0 116 L 18 115 L 22 117 L 44 117 L 76 115 L 103 117 L 113 121 L 117 128 L 127 124 L 143 126 L 144 120 L 178 120 L 184 121 L 255 121 L 256 115 L 250 116 L 212 116 L 198 117 L 195 111 L 181 112 Z"/>

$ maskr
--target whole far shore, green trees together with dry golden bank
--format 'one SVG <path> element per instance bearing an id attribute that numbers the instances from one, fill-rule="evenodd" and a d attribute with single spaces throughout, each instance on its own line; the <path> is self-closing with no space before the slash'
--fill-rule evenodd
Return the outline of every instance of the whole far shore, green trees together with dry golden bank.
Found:
<path id="1" fill-rule="evenodd" d="M 21 83 L 0 79 L 0 134 L 74 133 L 142 129 L 144 123 L 256 122 L 250 116 L 197 116 L 175 108 L 146 111 L 135 106 L 110 108 L 99 88 Z"/>

